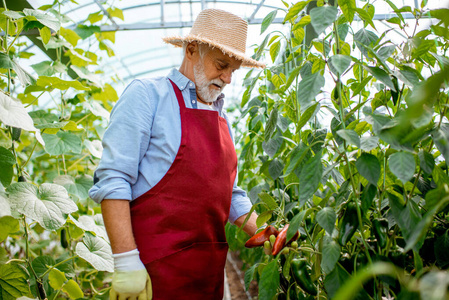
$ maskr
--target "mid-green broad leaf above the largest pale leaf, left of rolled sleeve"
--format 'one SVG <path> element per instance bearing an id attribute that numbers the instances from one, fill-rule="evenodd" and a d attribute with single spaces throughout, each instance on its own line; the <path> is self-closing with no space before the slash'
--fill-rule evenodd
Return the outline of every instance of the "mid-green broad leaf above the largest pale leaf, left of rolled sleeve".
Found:
<path id="1" fill-rule="evenodd" d="M 45 151 L 50 155 L 61 155 L 69 152 L 81 153 L 81 139 L 70 132 L 58 131 L 56 134 L 42 135 Z"/>

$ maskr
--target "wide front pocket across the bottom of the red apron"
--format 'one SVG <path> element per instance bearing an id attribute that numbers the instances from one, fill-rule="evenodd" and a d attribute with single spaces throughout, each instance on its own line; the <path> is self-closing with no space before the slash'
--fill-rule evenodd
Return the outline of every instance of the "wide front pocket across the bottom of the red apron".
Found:
<path id="1" fill-rule="evenodd" d="M 194 243 L 146 264 L 153 299 L 222 299 L 228 244 Z"/>

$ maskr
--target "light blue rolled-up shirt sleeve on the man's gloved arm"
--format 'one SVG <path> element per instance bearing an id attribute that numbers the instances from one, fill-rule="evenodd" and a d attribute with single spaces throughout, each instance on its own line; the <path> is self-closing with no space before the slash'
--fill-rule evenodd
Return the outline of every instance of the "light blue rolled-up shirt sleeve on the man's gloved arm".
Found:
<path id="1" fill-rule="evenodd" d="M 139 162 L 148 148 L 154 109 L 150 94 L 139 80 L 133 81 L 114 106 L 103 136 L 103 154 L 95 171 L 89 196 L 132 200 L 131 187 L 137 181 Z"/>

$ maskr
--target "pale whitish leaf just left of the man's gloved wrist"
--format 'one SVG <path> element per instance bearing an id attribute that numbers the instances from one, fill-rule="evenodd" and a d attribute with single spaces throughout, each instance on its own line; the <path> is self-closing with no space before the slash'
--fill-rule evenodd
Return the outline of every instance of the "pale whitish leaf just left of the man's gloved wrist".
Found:
<path id="1" fill-rule="evenodd" d="M 111 247 L 100 237 L 86 233 L 83 242 L 76 244 L 76 254 L 98 271 L 114 271 Z"/>

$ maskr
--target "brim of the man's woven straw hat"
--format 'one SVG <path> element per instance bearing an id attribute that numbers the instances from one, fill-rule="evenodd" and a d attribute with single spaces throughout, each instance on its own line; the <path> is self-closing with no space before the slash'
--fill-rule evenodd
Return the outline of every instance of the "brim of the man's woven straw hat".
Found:
<path id="1" fill-rule="evenodd" d="M 168 36 L 162 38 L 164 42 L 167 44 L 172 44 L 176 47 L 182 47 L 183 43 L 191 43 L 191 42 L 199 42 L 208 44 L 209 46 L 213 48 L 220 49 L 224 54 L 229 55 L 230 57 L 234 57 L 237 60 L 242 61 L 242 67 L 247 68 L 265 68 L 265 64 L 257 61 L 255 59 L 252 59 L 245 55 L 245 53 L 242 53 L 241 51 L 237 51 L 236 49 L 226 47 L 225 45 L 218 44 L 208 38 L 199 37 L 196 35 L 187 35 L 184 37 L 181 36 Z"/>

